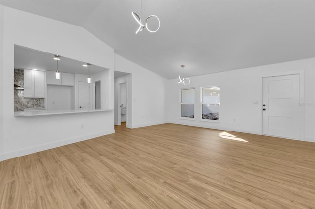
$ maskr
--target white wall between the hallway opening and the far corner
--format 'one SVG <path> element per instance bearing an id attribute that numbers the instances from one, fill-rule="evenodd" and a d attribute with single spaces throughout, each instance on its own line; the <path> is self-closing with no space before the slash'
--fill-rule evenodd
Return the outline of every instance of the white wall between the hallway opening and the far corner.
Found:
<path id="1" fill-rule="evenodd" d="M 167 79 L 117 54 L 115 54 L 114 60 L 116 71 L 132 74 L 132 121 L 130 128 L 165 123 Z"/>

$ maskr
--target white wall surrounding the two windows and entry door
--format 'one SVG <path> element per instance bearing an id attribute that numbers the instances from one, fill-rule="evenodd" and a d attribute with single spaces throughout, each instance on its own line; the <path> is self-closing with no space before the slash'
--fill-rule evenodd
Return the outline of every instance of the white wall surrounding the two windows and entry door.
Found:
<path id="1" fill-rule="evenodd" d="M 297 71 L 304 72 L 304 95 L 301 95 L 305 106 L 303 140 L 315 142 L 315 58 L 189 77 L 191 84 L 188 87 L 196 89 L 194 120 L 180 119 L 180 89 L 187 86 L 177 84 L 177 79 L 168 80 L 167 119 L 177 124 L 262 134 L 262 77 Z M 221 88 L 220 122 L 200 120 L 200 87 L 211 86 Z"/>

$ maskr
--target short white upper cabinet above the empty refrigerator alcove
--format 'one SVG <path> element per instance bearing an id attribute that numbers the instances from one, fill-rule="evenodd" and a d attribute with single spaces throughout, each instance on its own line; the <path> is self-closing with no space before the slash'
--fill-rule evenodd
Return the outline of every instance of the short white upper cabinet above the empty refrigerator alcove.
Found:
<path id="1" fill-rule="evenodd" d="M 60 73 L 60 79 L 56 79 L 55 71 L 46 71 L 46 82 L 51 85 L 74 86 L 73 73 Z"/>

